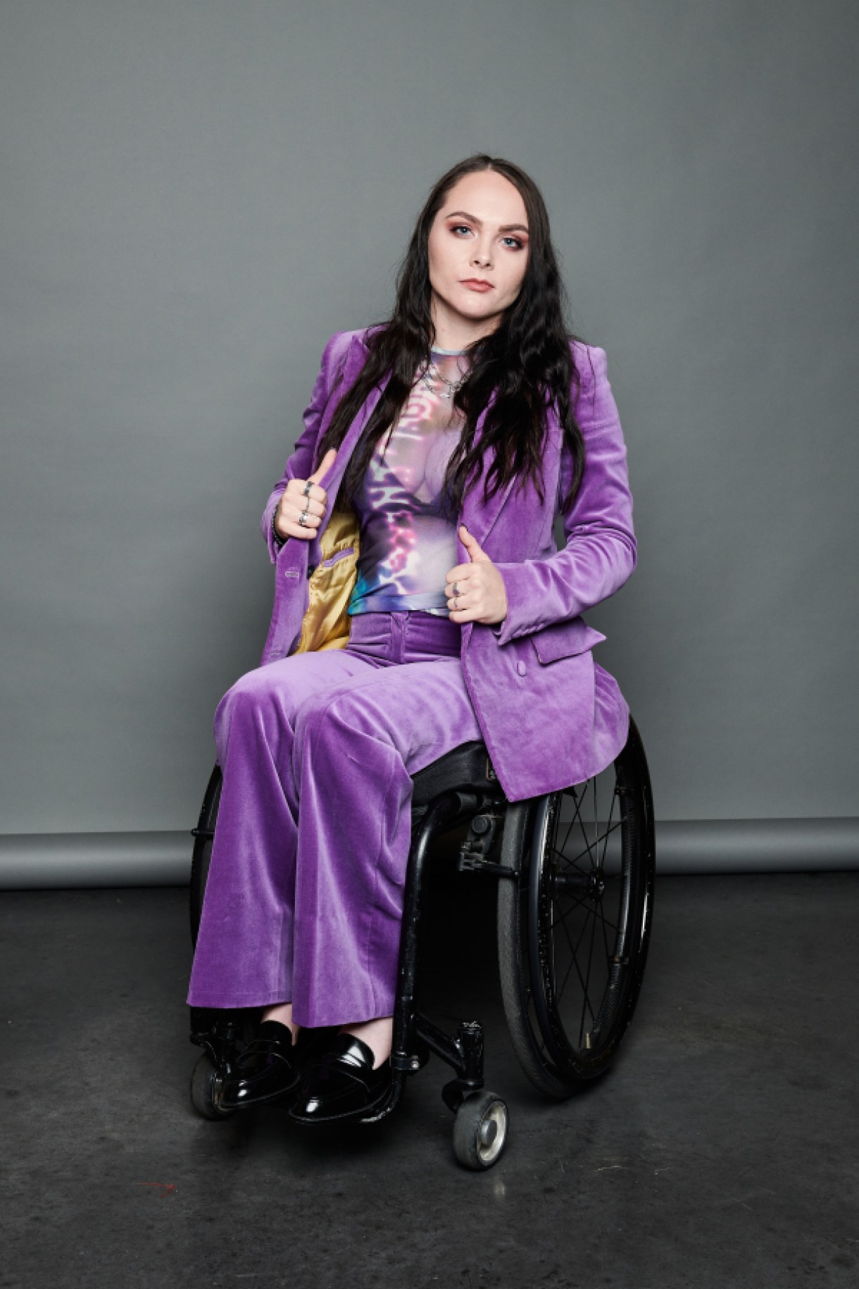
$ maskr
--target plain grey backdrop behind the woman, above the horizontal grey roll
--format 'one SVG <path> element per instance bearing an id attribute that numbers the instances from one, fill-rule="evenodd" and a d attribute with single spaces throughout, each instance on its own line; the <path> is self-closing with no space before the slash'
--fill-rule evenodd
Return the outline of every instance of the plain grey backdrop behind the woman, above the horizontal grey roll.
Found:
<path id="1" fill-rule="evenodd" d="M 193 822 L 322 347 L 384 315 L 475 150 L 542 186 L 608 352 L 639 567 L 590 620 L 659 820 L 859 815 L 858 28 L 836 0 L 5 0 L 6 855 Z"/>

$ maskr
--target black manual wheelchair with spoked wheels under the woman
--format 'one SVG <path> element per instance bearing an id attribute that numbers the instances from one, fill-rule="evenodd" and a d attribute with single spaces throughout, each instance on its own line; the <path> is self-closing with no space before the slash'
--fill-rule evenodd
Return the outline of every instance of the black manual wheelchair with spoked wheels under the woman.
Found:
<path id="1" fill-rule="evenodd" d="M 497 880 L 497 945 L 504 1012 L 514 1052 L 543 1097 L 564 1100 L 604 1074 L 641 989 L 653 916 L 654 821 L 639 730 L 612 766 L 563 791 L 509 802 L 486 744 L 462 744 L 412 776 L 412 834 L 399 950 L 392 1088 L 361 1123 L 392 1114 L 408 1076 L 430 1053 L 452 1067 L 442 1088 L 452 1111 L 453 1152 L 465 1168 L 491 1168 L 507 1139 L 504 1100 L 484 1088 L 483 1030 L 464 1021 L 446 1034 L 419 1011 L 419 927 L 430 847 L 465 828 L 460 873 Z M 191 933 L 196 944 L 218 819 L 215 766 L 192 835 Z M 437 853 L 434 851 L 434 853 Z M 223 1080 L 261 1009 L 191 1009 L 191 1042 L 203 1048 L 191 1079 L 194 1110 L 224 1119 Z"/>

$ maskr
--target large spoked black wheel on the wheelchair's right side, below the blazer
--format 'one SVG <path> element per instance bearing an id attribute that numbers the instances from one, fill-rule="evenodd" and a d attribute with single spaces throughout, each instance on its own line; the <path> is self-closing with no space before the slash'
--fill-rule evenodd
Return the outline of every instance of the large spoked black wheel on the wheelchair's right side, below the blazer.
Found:
<path id="1" fill-rule="evenodd" d="M 507 826 L 520 875 L 498 883 L 504 1007 L 523 1070 L 564 1098 L 610 1065 L 644 976 L 656 848 L 635 722 L 612 767 L 509 807 Z"/>

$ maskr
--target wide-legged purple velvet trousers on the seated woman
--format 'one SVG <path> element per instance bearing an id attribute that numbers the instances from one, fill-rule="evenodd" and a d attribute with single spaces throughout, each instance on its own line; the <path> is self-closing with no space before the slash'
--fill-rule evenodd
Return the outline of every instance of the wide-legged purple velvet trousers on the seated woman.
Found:
<path id="1" fill-rule="evenodd" d="M 291 1002 L 307 1026 L 390 1016 L 410 776 L 482 737 L 460 638 L 448 617 L 355 614 L 346 648 L 269 663 L 222 699 L 192 1007 Z"/>

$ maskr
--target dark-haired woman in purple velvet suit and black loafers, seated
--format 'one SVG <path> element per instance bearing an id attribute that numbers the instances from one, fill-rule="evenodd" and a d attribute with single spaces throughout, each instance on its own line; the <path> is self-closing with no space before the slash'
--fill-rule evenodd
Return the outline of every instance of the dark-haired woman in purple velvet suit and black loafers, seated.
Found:
<path id="1" fill-rule="evenodd" d="M 389 321 L 326 345 L 263 516 L 274 611 L 215 715 L 188 995 L 258 1009 L 220 1112 L 385 1103 L 413 776 L 482 740 L 507 803 L 556 802 L 621 755 L 628 708 L 581 614 L 632 572 L 631 514 L 605 354 L 565 329 L 543 200 L 469 157 L 420 213 Z M 303 1067 L 299 1031 L 327 1027 Z"/>

